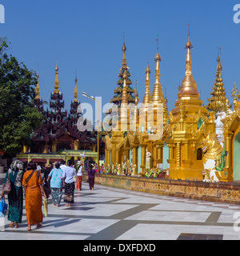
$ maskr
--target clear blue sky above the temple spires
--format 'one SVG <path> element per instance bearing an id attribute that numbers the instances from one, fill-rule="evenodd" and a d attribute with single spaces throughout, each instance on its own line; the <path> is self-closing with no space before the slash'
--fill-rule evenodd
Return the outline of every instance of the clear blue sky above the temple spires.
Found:
<path id="1" fill-rule="evenodd" d="M 174 108 L 179 81 L 185 72 L 188 23 L 194 79 L 206 104 L 216 73 L 218 47 L 222 47 L 223 82 L 226 96 L 234 82 L 240 90 L 240 23 L 235 24 L 233 0 L 1 0 L 6 23 L 0 35 L 11 42 L 14 54 L 30 70 L 40 75 L 40 96 L 46 101 L 54 90 L 54 68 L 58 58 L 59 86 L 66 109 L 74 98 L 74 78 L 78 74 L 78 99 L 82 90 L 110 101 L 122 66 L 122 34 L 131 80 L 138 80 L 142 101 L 147 61 L 154 88 L 154 56 L 159 35 L 162 89 L 168 108 Z M 149 57 L 148 57 L 149 56 Z"/>

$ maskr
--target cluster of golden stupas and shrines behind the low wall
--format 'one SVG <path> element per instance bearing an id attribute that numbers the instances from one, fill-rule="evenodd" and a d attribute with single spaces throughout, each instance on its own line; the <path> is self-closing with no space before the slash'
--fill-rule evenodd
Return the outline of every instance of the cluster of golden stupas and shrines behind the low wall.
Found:
<path id="1" fill-rule="evenodd" d="M 138 92 L 134 90 L 133 97 L 123 43 L 119 86 L 111 100 L 118 106 L 118 129 L 106 135 L 106 173 L 158 177 L 164 170 L 165 178 L 170 179 L 240 180 L 240 94 L 234 85 L 233 111 L 226 98 L 218 55 L 214 87 L 207 106 L 203 106 L 192 72 L 190 34 L 185 49 L 185 75 L 178 86 L 174 109 L 169 112 L 160 82 L 158 50 L 154 58 L 153 91 L 150 90 L 151 70 L 147 63 L 144 97 L 138 107 Z M 162 113 L 160 119 L 159 111 Z M 160 134 L 156 133 L 156 127 L 161 130 Z M 221 139 L 218 138 L 219 130 L 224 136 Z"/>

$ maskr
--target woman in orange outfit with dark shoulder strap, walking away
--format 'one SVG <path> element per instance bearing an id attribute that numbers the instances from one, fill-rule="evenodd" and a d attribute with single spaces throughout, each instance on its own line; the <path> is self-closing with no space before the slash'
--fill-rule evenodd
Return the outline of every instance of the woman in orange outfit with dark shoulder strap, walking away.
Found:
<path id="1" fill-rule="evenodd" d="M 37 228 L 42 226 L 42 194 L 45 198 L 46 194 L 42 186 L 41 173 L 36 170 L 35 163 L 30 161 L 26 170 L 26 173 L 23 175 L 22 186 L 24 186 L 26 192 L 25 208 L 28 222 L 27 230 L 31 230 L 31 225 L 37 224 Z"/>

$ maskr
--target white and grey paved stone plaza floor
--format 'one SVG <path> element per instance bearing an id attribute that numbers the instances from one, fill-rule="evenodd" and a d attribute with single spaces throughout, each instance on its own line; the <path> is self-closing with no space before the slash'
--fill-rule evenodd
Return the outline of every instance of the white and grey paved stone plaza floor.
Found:
<path id="1" fill-rule="evenodd" d="M 1 174 L 1 186 L 2 190 Z M 49 214 L 37 230 L 27 231 L 23 211 L 19 229 L 1 220 L 0 239 L 57 240 L 186 240 L 240 239 L 240 206 L 147 194 L 95 185 L 89 190 L 75 190 L 75 203 L 70 208 L 49 201 Z"/>

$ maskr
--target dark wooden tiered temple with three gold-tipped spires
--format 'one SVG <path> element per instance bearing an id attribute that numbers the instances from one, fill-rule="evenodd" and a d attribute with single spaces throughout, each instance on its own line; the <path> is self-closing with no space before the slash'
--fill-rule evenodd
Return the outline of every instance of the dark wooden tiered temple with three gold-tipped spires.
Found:
<path id="1" fill-rule="evenodd" d="M 62 151 L 66 150 L 97 151 L 97 132 L 78 130 L 78 118 L 82 115 L 82 111 L 78 101 L 77 78 L 75 79 L 74 101 L 71 102 L 68 113 L 64 110 L 62 93 L 58 89 L 58 66 L 55 70 L 54 92 L 50 94 L 49 109 L 47 108 L 47 110 L 44 110 L 42 99 L 39 97 L 39 83 L 37 85 L 37 97 L 34 103 L 42 113 L 44 121 L 43 125 L 34 130 L 31 135 L 33 143 L 30 153 L 61 154 Z M 104 154 L 103 143 L 100 135 L 100 155 Z"/>

